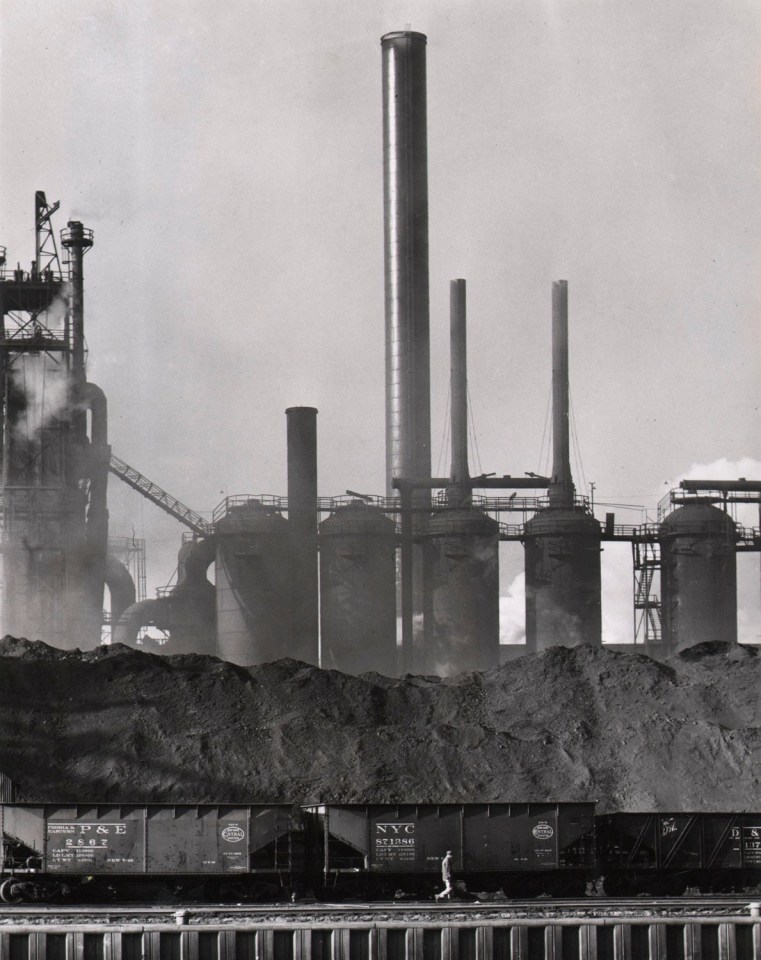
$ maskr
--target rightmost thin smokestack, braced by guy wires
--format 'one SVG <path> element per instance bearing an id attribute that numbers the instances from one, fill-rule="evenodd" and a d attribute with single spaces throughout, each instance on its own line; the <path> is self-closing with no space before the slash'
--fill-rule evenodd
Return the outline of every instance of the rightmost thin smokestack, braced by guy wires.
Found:
<path id="1" fill-rule="evenodd" d="M 552 284 L 552 482 L 550 506 L 573 507 L 568 400 L 568 281 Z"/>

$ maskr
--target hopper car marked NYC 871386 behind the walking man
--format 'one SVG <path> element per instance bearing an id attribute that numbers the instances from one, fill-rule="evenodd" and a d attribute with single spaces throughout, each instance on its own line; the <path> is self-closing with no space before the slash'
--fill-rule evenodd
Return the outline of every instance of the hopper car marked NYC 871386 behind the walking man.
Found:
<path id="1" fill-rule="evenodd" d="M 594 874 L 593 803 L 310 808 L 310 858 L 327 890 L 432 894 L 453 855 L 455 886 L 508 895 L 584 892 Z"/>

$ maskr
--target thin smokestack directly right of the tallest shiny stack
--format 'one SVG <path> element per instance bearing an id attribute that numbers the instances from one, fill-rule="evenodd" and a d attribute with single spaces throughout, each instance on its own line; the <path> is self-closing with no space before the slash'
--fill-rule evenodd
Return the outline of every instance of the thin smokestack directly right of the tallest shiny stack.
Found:
<path id="1" fill-rule="evenodd" d="M 465 281 L 449 284 L 449 353 L 452 395 L 452 470 L 447 501 L 450 507 L 471 500 L 468 480 L 468 362 Z"/>

